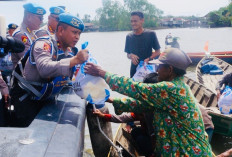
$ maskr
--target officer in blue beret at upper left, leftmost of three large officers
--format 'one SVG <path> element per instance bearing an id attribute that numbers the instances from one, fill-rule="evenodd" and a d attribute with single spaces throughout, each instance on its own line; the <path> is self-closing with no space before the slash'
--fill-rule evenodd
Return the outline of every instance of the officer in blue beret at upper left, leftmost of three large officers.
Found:
<path id="1" fill-rule="evenodd" d="M 41 23 L 43 22 L 43 15 L 46 13 L 44 8 L 33 3 L 24 4 L 23 7 L 23 22 L 21 26 L 14 31 L 13 37 L 23 41 L 25 44 L 25 50 L 21 53 L 12 54 L 12 62 L 14 67 L 28 50 L 33 40 L 35 40 L 33 31 L 39 29 Z"/>

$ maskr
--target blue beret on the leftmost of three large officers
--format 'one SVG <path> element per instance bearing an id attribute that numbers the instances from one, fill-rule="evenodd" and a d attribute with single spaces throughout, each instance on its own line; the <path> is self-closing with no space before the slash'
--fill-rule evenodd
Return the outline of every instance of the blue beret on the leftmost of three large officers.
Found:
<path id="1" fill-rule="evenodd" d="M 33 3 L 24 4 L 23 8 L 26 11 L 28 11 L 30 13 L 33 13 L 33 14 L 37 14 L 37 15 L 44 15 L 44 14 L 46 14 L 46 10 L 43 7 L 38 6 L 36 4 L 33 4 Z"/>

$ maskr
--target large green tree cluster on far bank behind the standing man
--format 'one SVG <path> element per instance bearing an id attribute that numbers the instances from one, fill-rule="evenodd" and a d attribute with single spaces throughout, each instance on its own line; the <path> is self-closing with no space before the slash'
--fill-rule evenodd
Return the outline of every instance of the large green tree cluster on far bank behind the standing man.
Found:
<path id="1" fill-rule="evenodd" d="M 117 0 L 102 0 L 102 7 L 96 10 L 94 20 L 90 19 L 90 15 L 84 15 L 82 20 L 85 23 L 92 22 L 98 25 L 100 31 L 130 30 L 132 11 L 144 13 L 144 27 L 146 28 L 158 26 L 158 19 L 163 14 L 163 11 L 147 0 L 124 0 L 124 5 Z"/>

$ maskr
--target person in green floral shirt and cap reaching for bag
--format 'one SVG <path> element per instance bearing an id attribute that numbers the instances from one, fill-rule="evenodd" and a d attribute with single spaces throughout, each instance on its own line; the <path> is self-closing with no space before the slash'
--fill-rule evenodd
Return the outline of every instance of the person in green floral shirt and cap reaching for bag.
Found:
<path id="1" fill-rule="evenodd" d="M 169 48 L 150 63 L 159 64 L 159 83 L 134 82 L 92 63 L 86 64 L 85 72 L 104 78 L 113 91 L 131 97 L 113 100 L 117 114 L 154 111 L 157 156 L 212 156 L 197 101 L 184 82 L 191 59 L 181 50 Z"/>

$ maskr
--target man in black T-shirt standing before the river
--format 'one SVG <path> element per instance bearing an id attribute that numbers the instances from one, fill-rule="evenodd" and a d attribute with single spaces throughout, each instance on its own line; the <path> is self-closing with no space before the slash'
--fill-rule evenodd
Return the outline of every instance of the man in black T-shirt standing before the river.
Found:
<path id="1" fill-rule="evenodd" d="M 148 63 L 160 54 L 160 45 L 156 33 L 143 28 L 144 16 L 142 12 L 131 13 L 131 26 L 133 32 L 126 36 L 125 52 L 131 59 L 130 77 L 136 72 L 140 61 Z M 152 52 L 152 49 L 155 52 Z"/>

